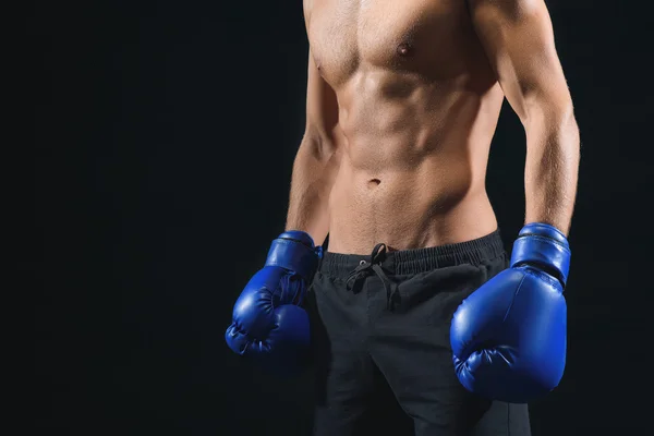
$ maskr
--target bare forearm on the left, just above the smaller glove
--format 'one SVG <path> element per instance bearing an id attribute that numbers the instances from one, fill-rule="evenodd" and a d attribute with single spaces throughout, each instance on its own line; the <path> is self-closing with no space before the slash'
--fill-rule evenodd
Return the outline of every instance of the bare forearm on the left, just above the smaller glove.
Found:
<path id="1" fill-rule="evenodd" d="M 287 230 L 302 230 L 323 244 L 329 232 L 329 193 L 339 166 L 335 147 L 305 138 L 293 164 Z"/>

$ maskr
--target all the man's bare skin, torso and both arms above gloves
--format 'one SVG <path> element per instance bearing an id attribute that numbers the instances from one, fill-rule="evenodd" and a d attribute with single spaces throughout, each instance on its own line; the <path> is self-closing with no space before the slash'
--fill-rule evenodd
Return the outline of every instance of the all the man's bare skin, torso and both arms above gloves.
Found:
<path id="1" fill-rule="evenodd" d="M 543 0 L 305 0 L 304 16 L 287 229 L 347 254 L 493 232 L 486 165 L 506 97 L 526 133 L 525 220 L 568 231 L 579 134 Z"/>

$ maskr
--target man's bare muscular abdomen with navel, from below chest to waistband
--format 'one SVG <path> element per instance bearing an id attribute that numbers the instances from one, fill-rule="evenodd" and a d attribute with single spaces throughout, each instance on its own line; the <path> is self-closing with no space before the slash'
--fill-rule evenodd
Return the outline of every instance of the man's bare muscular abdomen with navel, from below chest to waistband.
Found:
<path id="1" fill-rule="evenodd" d="M 446 83 L 360 71 L 340 88 L 340 168 L 329 196 L 329 251 L 368 254 L 481 238 L 497 228 L 485 190 L 502 101 L 467 77 Z"/>

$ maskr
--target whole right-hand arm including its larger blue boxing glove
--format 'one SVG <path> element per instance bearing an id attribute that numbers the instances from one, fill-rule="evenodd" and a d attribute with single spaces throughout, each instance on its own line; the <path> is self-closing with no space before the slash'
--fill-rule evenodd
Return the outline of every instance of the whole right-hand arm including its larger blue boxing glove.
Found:
<path id="1" fill-rule="evenodd" d="M 526 223 L 510 268 L 455 312 L 450 344 L 461 384 L 507 402 L 549 392 L 566 367 L 570 250 L 564 233 L 577 191 L 579 131 L 543 1 L 469 0 L 480 40 L 526 133 Z"/>

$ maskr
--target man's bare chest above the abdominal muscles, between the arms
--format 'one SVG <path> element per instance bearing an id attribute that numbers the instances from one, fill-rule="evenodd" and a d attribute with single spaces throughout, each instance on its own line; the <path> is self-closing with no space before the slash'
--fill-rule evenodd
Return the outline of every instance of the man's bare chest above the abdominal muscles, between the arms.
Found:
<path id="1" fill-rule="evenodd" d="M 440 74 L 471 36 L 465 0 L 314 0 L 308 39 L 332 86 L 362 68 Z"/>

